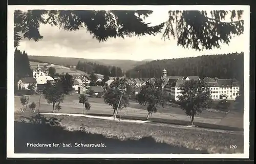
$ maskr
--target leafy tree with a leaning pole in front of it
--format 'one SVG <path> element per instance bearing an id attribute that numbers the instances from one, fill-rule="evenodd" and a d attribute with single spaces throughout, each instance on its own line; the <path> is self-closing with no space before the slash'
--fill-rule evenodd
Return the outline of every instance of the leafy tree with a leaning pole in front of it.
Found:
<path id="1" fill-rule="evenodd" d="M 114 120 L 117 111 L 129 105 L 129 88 L 125 79 L 116 79 L 111 83 L 109 90 L 104 94 L 104 103 L 109 104 L 114 109 Z M 120 119 L 120 118 L 119 118 Z"/>

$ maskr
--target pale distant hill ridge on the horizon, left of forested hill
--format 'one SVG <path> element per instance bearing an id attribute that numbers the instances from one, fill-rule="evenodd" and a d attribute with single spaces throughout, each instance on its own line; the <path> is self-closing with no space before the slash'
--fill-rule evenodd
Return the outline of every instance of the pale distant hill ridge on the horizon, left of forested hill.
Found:
<path id="1" fill-rule="evenodd" d="M 135 60 L 107 60 L 107 59 L 83 59 L 83 58 L 66 58 L 66 57 L 55 57 L 55 56 L 28 56 L 29 61 L 52 63 L 57 65 L 77 65 L 78 61 L 81 62 L 95 62 L 97 64 L 106 66 L 117 66 L 120 67 L 124 72 L 134 68 L 137 65 L 144 64 L 151 60 L 135 61 Z"/>

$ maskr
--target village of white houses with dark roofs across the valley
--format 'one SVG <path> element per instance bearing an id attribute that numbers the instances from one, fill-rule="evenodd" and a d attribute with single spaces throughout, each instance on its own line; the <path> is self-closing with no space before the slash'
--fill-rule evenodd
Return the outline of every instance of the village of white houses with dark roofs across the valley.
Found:
<path id="1" fill-rule="evenodd" d="M 18 81 L 18 90 L 25 89 L 29 90 L 32 89 L 30 86 L 34 86 L 34 90 L 42 90 L 47 83 L 47 81 L 54 82 L 55 80 L 59 79 L 58 76 L 51 77 L 48 75 L 49 67 L 48 66 L 40 66 L 39 64 L 37 67 L 33 69 L 33 77 L 25 77 L 21 78 Z M 32 67 L 33 68 L 33 67 Z M 73 66 L 75 68 L 75 66 Z M 66 72 L 67 73 L 67 72 Z M 65 72 L 61 73 L 60 75 L 66 74 Z M 93 86 L 90 86 L 91 78 L 90 75 L 86 72 L 74 72 L 69 73 L 69 75 L 73 78 L 73 89 L 74 93 L 86 93 L 86 94 L 93 94 L 94 96 L 100 95 L 103 96 L 104 92 L 108 90 L 108 87 L 111 85 L 115 79 L 126 79 L 127 83 L 131 85 L 134 89 L 133 96 L 136 96 L 140 88 L 146 84 L 148 78 L 126 78 L 126 77 L 108 77 L 109 79 L 104 80 L 104 75 L 101 74 L 94 74 L 96 77 L 96 82 Z M 156 77 L 153 77 L 153 79 Z M 168 95 L 175 101 L 178 101 L 178 96 L 181 95 L 180 86 L 187 80 L 201 80 L 198 76 L 167 76 L 166 69 L 163 69 L 161 79 L 163 80 L 162 87 L 168 93 Z M 240 84 L 239 81 L 236 79 L 218 79 L 205 77 L 204 80 L 207 81 L 208 86 L 210 88 L 211 99 L 212 100 L 231 100 L 234 101 L 239 96 Z"/>

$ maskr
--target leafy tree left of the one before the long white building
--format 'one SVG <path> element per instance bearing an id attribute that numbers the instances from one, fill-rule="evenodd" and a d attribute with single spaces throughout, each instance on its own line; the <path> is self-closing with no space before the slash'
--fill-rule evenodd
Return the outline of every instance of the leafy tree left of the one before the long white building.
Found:
<path id="1" fill-rule="evenodd" d="M 147 81 L 137 95 L 137 102 L 141 105 L 147 105 L 147 120 L 150 114 L 157 112 L 159 106 L 165 106 L 166 100 L 167 94 L 162 89 L 160 79 L 157 81 Z"/>

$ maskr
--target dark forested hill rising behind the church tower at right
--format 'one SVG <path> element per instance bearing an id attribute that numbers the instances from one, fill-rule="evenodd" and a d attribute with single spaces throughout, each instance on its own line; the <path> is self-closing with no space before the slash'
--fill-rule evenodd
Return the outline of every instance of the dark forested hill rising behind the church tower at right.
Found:
<path id="1" fill-rule="evenodd" d="M 154 60 L 130 69 L 126 72 L 126 77 L 159 77 L 163 68 L 167 70 L 167 76 L 236 78 L 243 81 L 244 53 Z"/>

